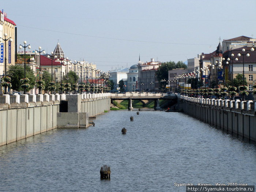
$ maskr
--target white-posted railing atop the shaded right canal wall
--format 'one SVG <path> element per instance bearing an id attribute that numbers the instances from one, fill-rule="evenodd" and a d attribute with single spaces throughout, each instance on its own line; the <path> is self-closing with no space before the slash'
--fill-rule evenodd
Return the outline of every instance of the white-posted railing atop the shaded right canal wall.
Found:
<path id="1" fill-rule="evenodd" d="M 199 104 L 206 104 L 210 106 L 219 106 L 230 109 L 241 109 L 246 111 L 256 112 L 256 101 L 240 101 L 240 100 L 222 100 L 222 99 L 203 99 L 203 98 L 193 98 L 184 95 L 177 95 L 178 98 L 184 99 L 185 101 L 195 102 Z"/>

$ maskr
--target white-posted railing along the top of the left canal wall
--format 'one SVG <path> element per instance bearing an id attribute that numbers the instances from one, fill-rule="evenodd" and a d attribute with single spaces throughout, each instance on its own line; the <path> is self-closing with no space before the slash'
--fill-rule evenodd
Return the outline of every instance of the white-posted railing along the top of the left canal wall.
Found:
<path id="1" fill-rule="evenodd" d="M 69 94 L 72 95 L 72 94 Z M 78 94 L 80 95 L 80 94 Z M 96 93 L 96 94 L 81 94 L 82 99 L 97 99 L 110 97 L 110 93 Z M 31 102 L 46 102 L 46 101 L 61 101 L 66 100 L 66 94 L 14 94 L 14 95 L 0 95 L 0 104 L 7 103 L 31 103 Z"/>

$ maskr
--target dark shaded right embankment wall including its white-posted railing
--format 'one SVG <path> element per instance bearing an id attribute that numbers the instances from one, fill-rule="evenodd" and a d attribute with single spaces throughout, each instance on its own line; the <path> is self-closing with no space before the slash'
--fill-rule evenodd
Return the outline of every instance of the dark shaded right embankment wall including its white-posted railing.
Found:
<path id="1" fill-rule="evenodd" d="M 178 97 L 178 105 L 194 118 L 232 135 L 256 141 L 255 103 Z"/>

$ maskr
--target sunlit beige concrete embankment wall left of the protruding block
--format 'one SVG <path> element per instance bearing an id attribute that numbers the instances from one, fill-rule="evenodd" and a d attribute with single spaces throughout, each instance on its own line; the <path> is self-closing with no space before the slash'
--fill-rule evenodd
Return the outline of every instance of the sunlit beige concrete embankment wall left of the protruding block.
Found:
<path id="1" fill-rule="evenodd" d="M 0 105 L 0 146 L 57 126 L 59 101 Z"/>

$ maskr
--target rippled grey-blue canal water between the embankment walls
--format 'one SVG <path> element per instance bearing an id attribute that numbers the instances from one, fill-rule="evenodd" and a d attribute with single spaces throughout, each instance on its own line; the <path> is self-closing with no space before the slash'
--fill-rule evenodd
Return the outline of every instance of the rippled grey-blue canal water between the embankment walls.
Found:
<path id="1" fill-rule="evenodd" d="M 174 183 L 256 185 L 256 145 L 185 114 L 110 111 L 94 122 L 1 146 L 0 191 L 184 192 Z M 100 179 L 104 164 L 111 167 L 110 180 Z"/>

